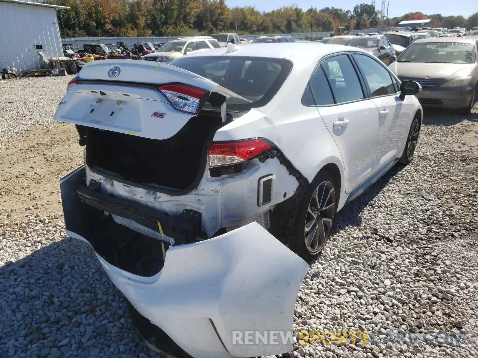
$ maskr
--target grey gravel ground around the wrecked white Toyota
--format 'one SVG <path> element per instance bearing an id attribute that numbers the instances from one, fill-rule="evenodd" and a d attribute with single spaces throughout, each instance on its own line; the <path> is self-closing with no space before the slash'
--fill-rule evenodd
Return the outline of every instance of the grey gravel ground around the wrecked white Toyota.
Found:
<path id="1" fill-rule="evenodd" d="M 0 83 L 0 140 L 15 148 L 15 141 L 29 140 L 26 127 L 49 125 L 66 82 Z M 9 95 L 16 115 L 3 111 L 7 86 L 17 91 Z M 17 120 L 24 93 L 36 104 L 27 105 L 33 124 Z M 477 114 L 427 113 L 412 164 L 393 169 L 338 214 L 334 235 L 305 278 L 294 314 L 297 332 L 375 336 L 366 344 L 348 337 L 337 346 L 320 339 L 303 344 L 307 337 L 298 333 L 293 352 L 282 357 L 478 356 L 477 120 Z M 71 127 L 53 127 L 35 133 L 53 138 L 46 142 L 52 150 L 62 133 L 73 136 Z M 26 160 L 11 150 L 10 160 Z M 61 161 L 55 165 L 51 176 L 68 171 L 59 169 Z M 18 180 L 27 192 L 35 179 Z M 45 214 L 33 198 L 30 206 L 16 204 L 25 196 L 0 196 L 0 357 L 155 357 L 89 246 L 65 238 L 61 204 L 55 198 Z M 20 209 L 12 211 L 15 206 Z M 466 332 L 466 342 L 447 340 L 443 332 Z"/>

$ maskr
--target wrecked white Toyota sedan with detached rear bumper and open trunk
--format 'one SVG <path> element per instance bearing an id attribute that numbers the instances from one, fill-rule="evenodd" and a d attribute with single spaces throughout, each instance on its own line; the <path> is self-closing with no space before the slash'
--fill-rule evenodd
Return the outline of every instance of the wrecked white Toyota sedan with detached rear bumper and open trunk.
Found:
<path id="1" fill-rule="evenodd" d="M 420 89 L 341 45 L 88 63 L 55 115 L 85 146 L 61 179 L 66 232 L 92 246 L 149 347 L 290 351 L 337 211 L 413 158 Z"/>

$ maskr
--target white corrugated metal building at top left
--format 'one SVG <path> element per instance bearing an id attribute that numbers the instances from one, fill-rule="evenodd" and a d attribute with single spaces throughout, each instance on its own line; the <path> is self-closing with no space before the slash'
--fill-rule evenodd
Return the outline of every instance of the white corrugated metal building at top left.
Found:
<path id="1" fill-rule="evenodd" d="M 0 0 L 0 68 L 39 70 L 38 52 L 63 56 L 57 9 L 65 6 L 19 0 Z"/>

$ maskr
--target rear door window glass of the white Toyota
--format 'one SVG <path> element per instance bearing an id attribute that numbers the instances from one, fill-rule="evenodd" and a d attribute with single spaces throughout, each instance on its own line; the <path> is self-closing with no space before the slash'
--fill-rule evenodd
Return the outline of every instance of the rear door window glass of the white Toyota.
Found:
<path id="1" fill-rule="evenodd" d="M 347 55 L 338 55 L 325 60 L 322 63 L 322 68 L 332 88 L 336 103 L 364 98 L 359 77 Z"/>

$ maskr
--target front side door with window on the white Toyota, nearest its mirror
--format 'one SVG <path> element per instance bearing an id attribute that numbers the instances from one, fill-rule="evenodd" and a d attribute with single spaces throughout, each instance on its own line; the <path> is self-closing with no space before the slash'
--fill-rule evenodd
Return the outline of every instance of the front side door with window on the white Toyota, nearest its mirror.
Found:
<path id="1" fill-rule="evenodd" d="M 371 101 L 377 106 L 380 139 L 373 158 L 373 168 L 377 171 L 401 154 L 409 114 L 403 109 L 398 84 L 383 63 L 363 53 L 353 53 L 353 58 L 363 75 Z"/>

